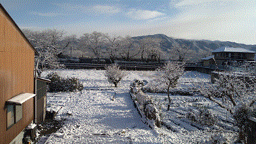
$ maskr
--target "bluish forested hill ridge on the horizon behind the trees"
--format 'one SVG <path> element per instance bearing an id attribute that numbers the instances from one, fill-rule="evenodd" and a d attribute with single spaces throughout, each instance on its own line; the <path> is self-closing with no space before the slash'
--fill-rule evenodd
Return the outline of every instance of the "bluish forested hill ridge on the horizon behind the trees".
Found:
<path id="1" fill-rule="evenodd" d="M 148 35 L 148 36 L 137 36 L 133 37 L 135 40 L 139 40 L 141 38 L 160 38 L 162 40 L 161 42 L 161 48 L 164 51 L 167 51 L 167 49 L 172 48 L 173 46 L 181 46 L 185 45 L 188 46 L 189 49 L 199 51 L 199 50 L 205 50 L 205 51 L 212 51 L 216 48 L 219 48 L 220 46 L 230 46 L 230 47 L 241 47 L 241 48 L 247 48 L 249 50 L 256 51 L 256 44 L 249 45 L 249 44 L 238 44 L 236 42 L 222 42 L 219 40 L 189 40 L 189 39 L 182 39 L 182 38 L 172 38 L 168 37 L 164 34 L 155 34 L 155 35 Z"/>

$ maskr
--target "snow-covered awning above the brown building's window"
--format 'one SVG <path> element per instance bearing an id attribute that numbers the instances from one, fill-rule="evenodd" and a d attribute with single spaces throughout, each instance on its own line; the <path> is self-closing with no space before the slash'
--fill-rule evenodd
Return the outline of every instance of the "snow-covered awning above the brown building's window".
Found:
<path id="1" fill-rule="evenodd" d="M 20 94 L 18 96 L 15 96 L 14 98 L 11 98 L 10 100 L 7 100 L 7 103 L 22 105 L 24 102 L 26 102 L 30 98 L 33 98 L 34 96 L 36 95 L 30 93 Z"/>

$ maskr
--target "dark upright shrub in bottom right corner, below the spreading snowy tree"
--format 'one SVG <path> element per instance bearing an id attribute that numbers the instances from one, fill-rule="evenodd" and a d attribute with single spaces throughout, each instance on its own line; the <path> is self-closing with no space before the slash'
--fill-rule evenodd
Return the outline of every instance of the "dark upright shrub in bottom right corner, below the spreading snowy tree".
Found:
<path id="1" fill-rule="evenodd" d="M 250 131 L 249 118 L 255 117 L 255 110 L 247 104 L 236 106 L 233 114 L 236 126 L 239 128 L 238 141 L 246 143 L 246 137 Z"/>

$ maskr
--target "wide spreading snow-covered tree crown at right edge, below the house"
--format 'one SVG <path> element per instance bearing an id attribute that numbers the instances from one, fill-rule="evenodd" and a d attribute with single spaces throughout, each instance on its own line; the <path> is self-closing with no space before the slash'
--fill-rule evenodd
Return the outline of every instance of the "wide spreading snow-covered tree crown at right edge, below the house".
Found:
<path id="1" fill-rule="evenodd" d="M 199 85 L 199 91 L 220 107 L 234 114 L 235 106 L 255 102 L 255 83 L 250 75 L 236 72 L 220 72 L 213 84 Z"/>

